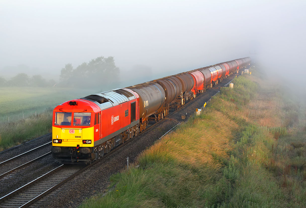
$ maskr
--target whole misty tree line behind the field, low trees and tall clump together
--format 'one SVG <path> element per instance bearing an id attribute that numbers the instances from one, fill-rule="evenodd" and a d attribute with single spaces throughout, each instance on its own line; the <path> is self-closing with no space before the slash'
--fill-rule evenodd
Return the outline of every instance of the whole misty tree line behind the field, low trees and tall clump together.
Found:
<path id="1" fill-rule="evenodd" d="M 9 80 L 0 77 L 0 87 L 115 87 L 119 82 L 119 68 L 115 65 L 114 57 L 103 56 L 84 62 L 76 68 L 72 64 L 66 64 L 62 68 L 59 82 L 46 80 L 41 75 L 28 76 L 26 73 L 18 73 Z"/>

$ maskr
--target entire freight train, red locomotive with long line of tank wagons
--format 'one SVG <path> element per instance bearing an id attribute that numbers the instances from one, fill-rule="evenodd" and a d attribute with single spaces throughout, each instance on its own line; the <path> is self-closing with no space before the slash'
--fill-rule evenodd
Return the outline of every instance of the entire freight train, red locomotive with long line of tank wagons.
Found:
<path id="1" fill-rule="evenodd" d="M 66 101 L 53 111 L 53 157 L 90 164 L 250 63 L 236 59 Z"/>

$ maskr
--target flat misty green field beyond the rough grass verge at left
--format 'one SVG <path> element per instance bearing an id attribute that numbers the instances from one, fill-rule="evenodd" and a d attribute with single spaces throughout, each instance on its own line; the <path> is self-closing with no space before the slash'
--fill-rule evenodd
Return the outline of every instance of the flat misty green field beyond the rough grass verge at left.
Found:
<path id="1" fill-rule="evenodd" d="M 69 88 L 0 87 L 0 123 L 17 121 L 93 92 Z"/>

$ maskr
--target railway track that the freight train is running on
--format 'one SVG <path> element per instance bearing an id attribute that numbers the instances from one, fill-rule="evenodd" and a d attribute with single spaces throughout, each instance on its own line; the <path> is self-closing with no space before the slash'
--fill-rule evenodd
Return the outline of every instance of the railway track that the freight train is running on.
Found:
<path id="1" fill-rule="evenodd" d="M 188 102 L 184 106 L 188 106 L 190 103 L 192 103 L 192 102 Z M 171 116 L 173 113 L 175 113 L 179 110 L 180 109 L 170 113 L 167 117 Z M 165 117 L 165 118 L 167 118 L 167 117 Z M 146 131 L 150 130 L 156 124 L 159 124 L 159 123 L 160 122 L 157 122 L 157 123 L 151 125 L 150 127 L 146 128 L 143 132 L 146 132 Z M 137 138 L 138 136 L 142 135 L 142 133 L 138 134 L 137 136 L 134 136 L 129 141 L 131 141 L 131 140 Z M 99 158 L 95 162 L 93 162 L 90 165 L 87 165 L 85 167 L 84 166 L 76 166 L 76 165 L 60 165 L 60 166 L 58 166 L 54 170 L 38 177 L 37 179 L 31 181 L 30 183 L 28 183 L 28 184 L 16 189 L 15 191 L 12 191 L 11 193 L 3 196 L 2 198 L 0 198 L 0 207 L 19 207 L 19 208 L 21 208 L 21 207 L 30 206 L 32 203 L 34 203 L 34 202 L 38 201 L 39 199 L 43 198 L 45 195 L 47 195 L 51 191 L 54 191 L 59 186 L 66 183 L 67 181 L 69 181 L 70 179 L 75 177 L 76 175 L 79 175 L 80 173 L 84 172 L 86 169 L 88 169 L 91 166 L 95 165 L 96 163 L 100 162 L 103 158 L 107 157 L 109 154 L 112 154 L 114 151 L 116 151 L 116 150 L 120 149 L 121 147 L 125 146 L 125 144 L 129 143 L 129 141 L 123 143 L 118 148 L 112 150 L 108 154 L 104 155 L 103 157 Z M 1 163 L 0 163 L 0 165 L 1 165 Z"/>

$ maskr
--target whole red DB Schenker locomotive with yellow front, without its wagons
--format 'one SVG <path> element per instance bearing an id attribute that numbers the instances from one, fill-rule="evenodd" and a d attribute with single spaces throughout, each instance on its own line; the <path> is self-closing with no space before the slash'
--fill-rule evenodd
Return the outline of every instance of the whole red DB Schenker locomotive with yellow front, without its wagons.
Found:
<path id="1" fill-rule="evenodd" d="M 116 89 L 64 102 L 54 109 L 53 156 L 90 163 L 138 133 L 139 96 Z"/>

